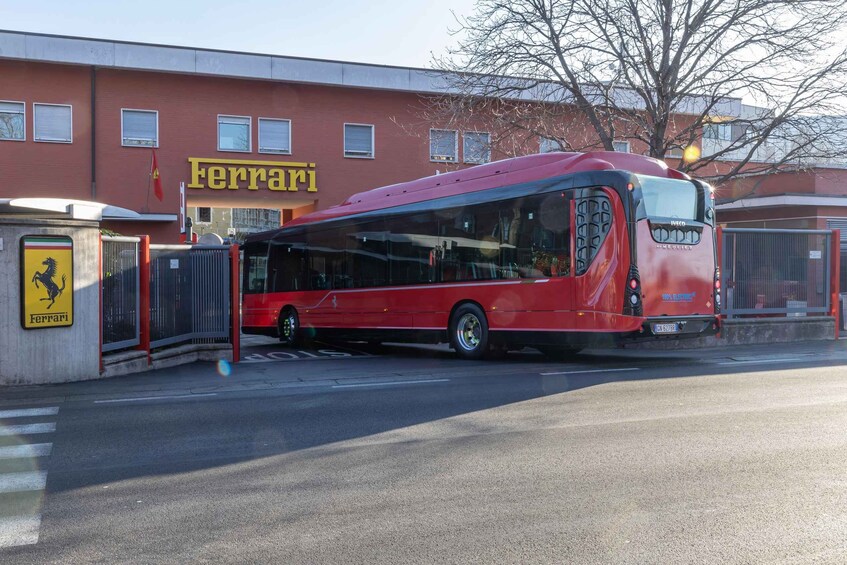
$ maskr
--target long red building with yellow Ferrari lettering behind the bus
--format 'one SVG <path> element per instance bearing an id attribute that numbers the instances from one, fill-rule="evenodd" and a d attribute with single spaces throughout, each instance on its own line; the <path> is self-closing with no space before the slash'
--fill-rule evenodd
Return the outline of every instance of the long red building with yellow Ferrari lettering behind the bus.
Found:
<path id="1" fill-rule="evenodd" d="M 104 226 L 155 242 L 180 238 L 181 186 L 187 210 L 280 210 L 285 222 L 506 156 L 492 154 L 485 126 L 423 117 L 426 96 L 450 92 L 435 71 L 0 31 L 0 77 L 0 198 L 128 208 L 137 219 Z M 827 227 L 847 218 L 843 173 L 739 179 L 719 187 L 736 199 L 719 221 Z"/>

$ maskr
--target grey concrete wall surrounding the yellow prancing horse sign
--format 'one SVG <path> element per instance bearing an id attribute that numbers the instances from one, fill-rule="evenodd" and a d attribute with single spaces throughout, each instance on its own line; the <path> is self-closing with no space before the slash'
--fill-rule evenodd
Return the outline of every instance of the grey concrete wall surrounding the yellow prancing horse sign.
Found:
<path id="1" fill-rule="evenodd" d="M 21 327 L 20 239 L 66 235 L 74 243 L 74 320 L 64 328 Z M 0 217 L 0 385 L 100 376 L 100 231 L 96 222 Z"/>

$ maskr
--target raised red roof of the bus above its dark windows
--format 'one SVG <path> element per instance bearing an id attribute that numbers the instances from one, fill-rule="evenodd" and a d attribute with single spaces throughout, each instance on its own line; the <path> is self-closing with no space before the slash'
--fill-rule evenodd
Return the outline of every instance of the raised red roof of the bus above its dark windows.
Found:
<path id="1" fill-rule="evenodd" d="M 558 177 L 569 173 L 615 169 L 657 177 L 689 178 L 684 173 L 668 168 L 663 161 L 633 153 L 613 151 L 542 153 L 504 159 L 460 171 L 359 192 L 341 204 L 301 216 L 286 223 L 284 227 Z"/>

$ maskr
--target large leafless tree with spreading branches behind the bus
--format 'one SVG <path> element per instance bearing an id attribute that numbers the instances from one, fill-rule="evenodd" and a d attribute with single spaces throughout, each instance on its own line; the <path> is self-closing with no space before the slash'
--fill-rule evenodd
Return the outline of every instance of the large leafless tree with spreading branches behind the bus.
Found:
<path id="1" fill-rule="evenodd" d="M 503 153 L 629 141 L 717 183 L 847 157 L 845 0 L 479 0 L 459 23 L 426 112 Z"/>

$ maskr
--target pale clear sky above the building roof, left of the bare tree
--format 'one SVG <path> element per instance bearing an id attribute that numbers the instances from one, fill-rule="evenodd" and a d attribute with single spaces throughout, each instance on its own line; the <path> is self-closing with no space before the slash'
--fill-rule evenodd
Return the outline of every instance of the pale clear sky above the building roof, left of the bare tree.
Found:
<path id="1" fill-rule="evenodd" d="M 0 29 L 433 66 L 474 0 L 0 0 Z"/>

